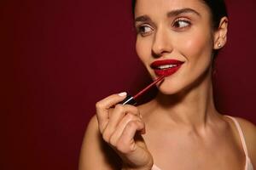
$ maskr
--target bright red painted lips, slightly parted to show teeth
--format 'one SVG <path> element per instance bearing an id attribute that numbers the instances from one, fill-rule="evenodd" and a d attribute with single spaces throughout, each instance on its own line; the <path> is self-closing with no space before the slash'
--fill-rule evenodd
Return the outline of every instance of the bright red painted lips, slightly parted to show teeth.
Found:
<path id="1" fill-rule="evenodd" d="M 165 59 L 154 61 L 150 67 L 154 69 L 154 73 L 161 77 L 169 77 L 174 74 L 183 65 L 183 61 L 177 59 Z"/>

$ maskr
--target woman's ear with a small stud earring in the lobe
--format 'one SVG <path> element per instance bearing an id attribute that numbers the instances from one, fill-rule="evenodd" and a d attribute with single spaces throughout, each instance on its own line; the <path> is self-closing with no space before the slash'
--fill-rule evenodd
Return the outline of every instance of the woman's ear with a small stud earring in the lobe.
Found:
<path id="1" fill-rule="evenodd" d="M 227 42 L 228 21 L 228 18 L 225 16 L 220 20 L 218 30 L 214 32 L 214 49 L 224 47 Z"/>

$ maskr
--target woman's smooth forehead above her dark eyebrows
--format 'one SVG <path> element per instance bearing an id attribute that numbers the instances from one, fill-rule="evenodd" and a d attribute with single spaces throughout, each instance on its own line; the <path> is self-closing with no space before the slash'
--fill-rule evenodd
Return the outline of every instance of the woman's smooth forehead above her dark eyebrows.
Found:
<path id="1" fill-rule="evenodd" d="M 202 0 L 137 0 L 135 17 L 140 15 L 161 16 L 181 8 L 194 9 L 201 15 L 208 15 L 210 11 Z"/>

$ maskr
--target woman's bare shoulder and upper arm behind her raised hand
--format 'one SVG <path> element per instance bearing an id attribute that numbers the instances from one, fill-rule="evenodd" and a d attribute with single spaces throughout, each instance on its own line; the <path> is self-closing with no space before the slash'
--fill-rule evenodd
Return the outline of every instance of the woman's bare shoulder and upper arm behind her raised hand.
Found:
<path id="1" fill-rule="evenodd" d="M 79 170 L 113 170 L 118 169 L 119 157 L 102 140 L 98 129 L 96 116 L 90 122 L 84 133 L 84 140 L 80 151 Z"/>

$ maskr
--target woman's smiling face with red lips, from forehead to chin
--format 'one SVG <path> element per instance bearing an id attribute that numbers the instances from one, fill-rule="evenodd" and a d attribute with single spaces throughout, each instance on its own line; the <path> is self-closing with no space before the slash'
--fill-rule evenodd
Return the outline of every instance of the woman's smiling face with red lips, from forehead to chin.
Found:
<path id="1" fill-rule="evenodd" d="M 210 71 L 212 23 L 201 0 L 137 0 L 135 26 L 137 54 L 149 74 L 166 76 L 162 93 L 189 88 Z"/>

